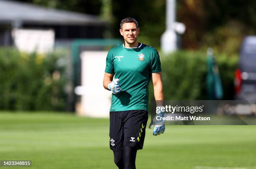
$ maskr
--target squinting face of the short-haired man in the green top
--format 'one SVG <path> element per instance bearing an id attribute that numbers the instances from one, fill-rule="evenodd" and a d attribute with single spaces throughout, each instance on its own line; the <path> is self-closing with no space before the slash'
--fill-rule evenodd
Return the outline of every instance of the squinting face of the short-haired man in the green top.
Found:
<path id="1" fill-rule="evenodd" d="M 133 44 L 137 41 L 139 32 L 140 28 L 137 29 L 135 23 L 124 23 L 122 29 L 120 29 L 120 34 L 128 44 Z"/>

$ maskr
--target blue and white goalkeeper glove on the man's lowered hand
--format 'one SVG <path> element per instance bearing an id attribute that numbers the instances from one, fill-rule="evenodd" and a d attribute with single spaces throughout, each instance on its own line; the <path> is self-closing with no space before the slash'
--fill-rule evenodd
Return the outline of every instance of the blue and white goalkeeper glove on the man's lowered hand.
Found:
<path id="1" fill-rule="evenodd" d="M 153 121 L 151 121 L 151 123 L 149 124 L 149 129 L 151 129 L 155 125 L 154 131 L 153 131 L 154 136 L 163 134 L 164 131 L 165 131 L 164 121 L 163 120 L 157 120 L 157 119 L 160 119 L 160 117 L 164 117 L 164 112 L 163 111 L 161 111 L 159 114 L 156 114 Z"/>

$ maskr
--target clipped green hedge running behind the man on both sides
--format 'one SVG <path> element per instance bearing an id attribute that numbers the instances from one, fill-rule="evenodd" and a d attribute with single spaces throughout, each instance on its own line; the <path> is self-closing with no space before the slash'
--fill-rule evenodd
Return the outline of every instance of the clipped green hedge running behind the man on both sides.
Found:
<path id="1" fill-rule="evenodd" d="M 165 100 L 207 99 L 205 53 L 184 50 L 161 55 L 160 59 Z M 238 56 L 220 54 L 216 60 L 223 83 L 223 100 L 232 100 Z M 65 110 L 68 104 L 65 88 L 70 77 L 67 62 L 64 53 L 27 54 L 14 48 L 0 48 L 0 109 Z M 149 93 L 153 100 L 152 83 Z"/>

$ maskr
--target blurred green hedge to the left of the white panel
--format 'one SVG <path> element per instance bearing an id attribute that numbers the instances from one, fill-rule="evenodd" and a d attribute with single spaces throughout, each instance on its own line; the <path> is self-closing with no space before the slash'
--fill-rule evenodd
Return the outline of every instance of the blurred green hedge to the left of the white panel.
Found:
<path id="1" fill-rule="evenodd" d="M 59 53 L 40 55 L 0 49 L 0 109 L 64 110 L 67 96 Z"/>

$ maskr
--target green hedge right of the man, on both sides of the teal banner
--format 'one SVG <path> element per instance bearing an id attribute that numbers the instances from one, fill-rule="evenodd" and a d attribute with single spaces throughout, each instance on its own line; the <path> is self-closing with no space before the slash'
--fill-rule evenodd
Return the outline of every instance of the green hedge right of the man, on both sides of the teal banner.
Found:
<path id="1" fill-rule="evenodd" d="M 177 51 L 161 58 L 162 81 L 165 100 L 207 99 L 207 55 L 193 51 Z M 223 99 L 233 99 L 234 72 L 238 57 L 216 55 L 223 83 Z M 150 100 L 154 100 L 152 83 L 149 86 Z"/>

